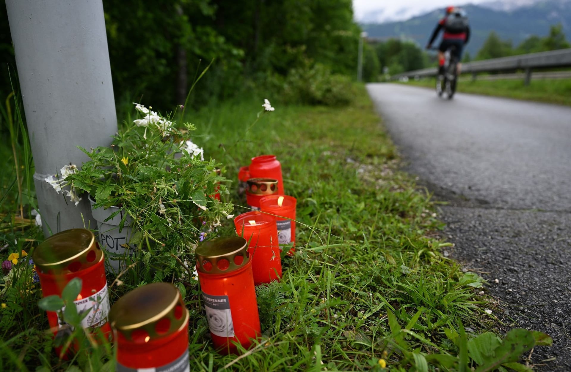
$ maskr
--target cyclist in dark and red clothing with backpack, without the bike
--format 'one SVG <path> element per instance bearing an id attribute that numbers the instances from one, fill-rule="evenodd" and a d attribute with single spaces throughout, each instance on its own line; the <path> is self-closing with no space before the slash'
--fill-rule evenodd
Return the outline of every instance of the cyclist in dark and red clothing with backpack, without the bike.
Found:
<path id="1" fill-rule="evenodd" d="M 465 11 L 454 6 L 447 7 L 445 17 L 440 19 L 434 32 L 432 32 L 430 41 L 427 44 L 427 49 L 432 47 L 432 43 L 442 28 L 444 28 L 444 35 L 438 47 L 439 74 L 444 73 L 444 52 L 452 46 L 455 47 L 452 52 L 459 61 L 457 64 L 457 73 L 460 73 L 462 49 L 470 39 L 470 26 Z"/>

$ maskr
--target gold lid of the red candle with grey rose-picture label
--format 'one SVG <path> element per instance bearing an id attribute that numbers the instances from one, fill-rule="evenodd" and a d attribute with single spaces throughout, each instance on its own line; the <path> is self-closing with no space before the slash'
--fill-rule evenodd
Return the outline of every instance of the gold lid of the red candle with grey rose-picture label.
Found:
<path id="1" fill-rule="evenodd" d="M 200 244 L 194 251 L 196 270 L 207 274 L 223 274 L 250 261 L 246 239 L 240 236 L 221 236 Z"/>

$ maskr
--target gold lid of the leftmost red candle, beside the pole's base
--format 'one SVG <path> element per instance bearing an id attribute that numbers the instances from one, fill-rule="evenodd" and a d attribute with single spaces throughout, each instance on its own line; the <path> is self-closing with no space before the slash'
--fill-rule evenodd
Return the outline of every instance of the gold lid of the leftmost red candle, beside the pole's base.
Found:
<path id="1" fill-rule="evenodd" d="M 42 273 L 68 274 L 95 265 L 103 259 L 103 251 L 93 232 L 72 228 L 44 240 L 35 248 L 32 259 Z"/>

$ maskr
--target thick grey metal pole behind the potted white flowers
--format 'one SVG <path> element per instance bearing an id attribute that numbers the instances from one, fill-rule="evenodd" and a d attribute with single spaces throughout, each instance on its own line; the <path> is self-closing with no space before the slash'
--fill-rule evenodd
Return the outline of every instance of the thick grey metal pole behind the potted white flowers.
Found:
<path id="1" fill-rule="evenodd" d="M 75 146 L 106 146 L 117 117 L 102 0 L 6 0 L 46 236 L 95 228 L 87 197 L 76 207 L 44 181 L 87 160 Z"/>

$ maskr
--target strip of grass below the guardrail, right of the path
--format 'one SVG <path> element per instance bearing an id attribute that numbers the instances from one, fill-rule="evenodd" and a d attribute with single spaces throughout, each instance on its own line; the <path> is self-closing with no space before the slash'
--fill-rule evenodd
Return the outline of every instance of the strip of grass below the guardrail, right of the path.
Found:
<path id="1" fill-rule="evenodd" d="M 409 80 L 405 84 L 434 88 L 435 79 Z M 458 91 L 571 106 L 571 79 L 459 81 Z"/>

